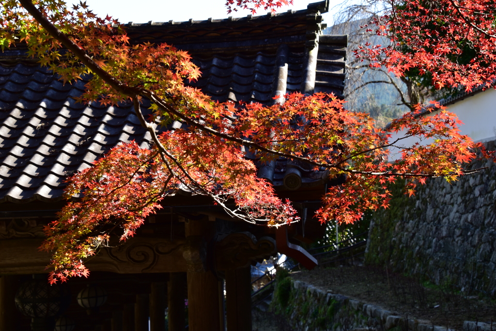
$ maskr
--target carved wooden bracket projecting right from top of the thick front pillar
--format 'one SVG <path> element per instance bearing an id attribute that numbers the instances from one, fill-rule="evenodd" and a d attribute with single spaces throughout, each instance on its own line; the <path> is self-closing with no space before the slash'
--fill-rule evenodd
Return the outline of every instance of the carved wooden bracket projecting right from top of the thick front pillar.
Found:
<path id="1" fill-rule="evenodd" d="M 250 265 L 253 261 L 269 258 L 277 253 L 275 240 L 262 237 L 256 240 L 249 232 L 237 232 L 219 237 L 215 244 L 217 270 L 232 270 Z"/>

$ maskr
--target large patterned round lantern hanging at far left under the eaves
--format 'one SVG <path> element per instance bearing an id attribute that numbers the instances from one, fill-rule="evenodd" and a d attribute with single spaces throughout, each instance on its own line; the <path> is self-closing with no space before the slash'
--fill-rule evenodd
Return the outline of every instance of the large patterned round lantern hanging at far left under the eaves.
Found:
<path id="1" fill-rule="evenodd" d="M 47 279 L 24 282 L 15 294 L 15 305 L 22 314 L 36 319 L 54 317 L 64 311 L 70 293 L 61 284 L 49 285 Z"/>

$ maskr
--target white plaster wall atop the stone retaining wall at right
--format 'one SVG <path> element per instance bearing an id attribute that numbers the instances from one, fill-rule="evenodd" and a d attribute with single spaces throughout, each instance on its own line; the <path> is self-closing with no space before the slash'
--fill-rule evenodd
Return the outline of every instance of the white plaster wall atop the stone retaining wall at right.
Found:
<path id="1" fill-rule="evenodd" d="M 493 88 L 457 101 L 447 108 L 463 122 L 463 125 L 460 126 L 461 134 L 468 135 L 474 141 L 486 142 L 496 139 L 496 90 Z M 393 133 L 389 141 L 403 137 L 404 134 L 405 132 Z M 411 147 L 415 141 L 418 140 L 410 137 L 401 140 L 398 144 Z M 422 141 L 423 144 L 428 142 Z M 391 148 L 391 158 L 397 159 L 399 157 L 398 149 Z"/>

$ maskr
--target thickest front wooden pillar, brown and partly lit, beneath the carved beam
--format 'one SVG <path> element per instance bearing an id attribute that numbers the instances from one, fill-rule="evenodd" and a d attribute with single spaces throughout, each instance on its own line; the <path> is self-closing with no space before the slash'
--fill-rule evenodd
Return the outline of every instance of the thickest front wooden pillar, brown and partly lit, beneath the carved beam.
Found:
<path id="1" fill-rule="evenodd" d="M 189 220 L 186 237 L 202 236 L 209 242 L 215 223 L 208 220 Z M 187 240 L 187 238 L 186 238 Z M 221 331 L 219 281 L 211 271 L 187 272 L 187 300 L 189 331 Z"/>

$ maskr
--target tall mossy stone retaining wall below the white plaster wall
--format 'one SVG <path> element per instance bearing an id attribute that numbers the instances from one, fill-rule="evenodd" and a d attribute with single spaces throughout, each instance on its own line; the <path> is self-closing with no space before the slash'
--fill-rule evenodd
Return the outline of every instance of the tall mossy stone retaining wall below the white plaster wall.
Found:
<path id="1" fill-rule="evenodd" d="M 411 198 L 393 187 L 390 209 L 373 215 L 366 263 L 496 297 L 496 167 L 472 167 L 488 169 L 428 180 Z"/>

